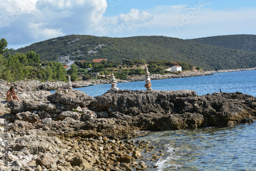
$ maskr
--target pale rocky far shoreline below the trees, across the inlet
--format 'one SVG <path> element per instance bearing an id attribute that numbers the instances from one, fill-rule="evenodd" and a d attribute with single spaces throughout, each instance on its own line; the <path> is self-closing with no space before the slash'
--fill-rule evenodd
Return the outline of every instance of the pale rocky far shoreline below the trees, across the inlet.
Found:
<path id="1" fill-rule="evenodd" d="M 237 70 L 219 70 L 219 71 L 185 71 L 182 73 L 176 73 L 176 74 L 152 74 L 151 80 L 157 80 L 157 79 L 168 79 L 168 78 L 182 78 L 182 77 L 196 77 L 196 76 L 205 76 L 205 75 L 212 75 L 214 73 L 220 73 L 220 72 L 235 72 L 235 71 L 249 71 L 249 70 L 256 70 L 256 68 L 249 68 L 249 69 L 237 69 Z M 131 81 L 144 81 L 145 76 L 136 76 L 131 77 L 127 80 L 121 80 L 116 79 L 117 82 L 131 82 Z M 87 87 L 93 84 L 109 84 L 111 83 L 111 79 L 92 79 L 87 81 L 74 81 L 72 82 L 73 88 L 81 88 L 81 87 Z M 7 82 L 5 80 L 0 80 L 0 95 L 4 94 L 9 90 L 11 85 L 14 85 L 14 87 L 19 92 L 27 92 L 27 91 L 38 91 L 38 90 L 45 90 L 45 91 L 53 91 L 57 89 L 65 89 L 67 88 L 67 83 L 63 81 L 46 81 L 46 82 L 40 82 L 37 80 L 25 80 L 25 81 L 14 81 L 14 82 Z M 4 96 L 3 96 L 4 98 Z"/>

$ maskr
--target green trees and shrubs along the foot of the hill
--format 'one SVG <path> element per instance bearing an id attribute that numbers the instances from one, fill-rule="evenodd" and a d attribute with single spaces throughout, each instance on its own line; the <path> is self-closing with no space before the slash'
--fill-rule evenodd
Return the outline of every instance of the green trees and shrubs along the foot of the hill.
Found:
<path id="1" fill-rule="evenodd" d="M 101 79 L 109 79 L 110 74 L 114 73 L 116 78 L 127 79 L 129 76 L 142 75 L 144 69 L 142 66 L 148 64 L 148 70 L 154 74 L 165 74 L 165 69 L 180 65 L 183 70 L 191 70 L 193 66 L 187 62 L 171 62 L 171 61 L 145 61 L 141 60 L 123 60 L 119 61 L 106 61 L 101 62 L 81 62 L 76 61 L 71 65 L 71 68 L 66 71 L 60 62 L 40 61 L 39 54 L 34 51 L 28 53 L 15 53 L 14 55 L 8 54 L 7 41 L 2 38 L 0 45 L 0 79 L 7 81 L 36 79 L 41 81 L 66 81 L 67 74 L 71 76 L 71 80 L 79 79 L 95 79 L 94 76 L 87 71 L 99 72 Z M 2 54 L 8 54 L 3 56 Z M 79 68 L 79 69 L 78 69 Z M 67 73 L 67 74 L 66 74 Z"/>

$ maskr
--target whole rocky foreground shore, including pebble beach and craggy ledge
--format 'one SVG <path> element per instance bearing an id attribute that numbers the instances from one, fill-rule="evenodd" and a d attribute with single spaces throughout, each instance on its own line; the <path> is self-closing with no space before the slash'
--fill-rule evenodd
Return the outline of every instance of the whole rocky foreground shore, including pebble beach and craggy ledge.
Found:
<path id="1" fill-rule="evenodd" d="M 167 154 L 150 142 L 123 139 L 256 118 L 256 97 L 239 92 L 119 90 L 91 97 L 77 90 L 19 89 L 25 87 L 18 87 L 19 101 L 1 101 L 0 170 L 154 169 L 157 165 L 145 163 Z"/>

